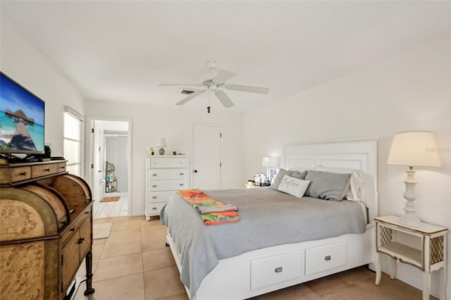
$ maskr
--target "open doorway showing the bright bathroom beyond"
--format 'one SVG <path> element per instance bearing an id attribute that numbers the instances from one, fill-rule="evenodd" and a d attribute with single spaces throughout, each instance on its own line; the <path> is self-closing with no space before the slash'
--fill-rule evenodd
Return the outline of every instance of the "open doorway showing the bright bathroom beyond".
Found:
<path id="1" fill-rule="evenodd" d="M 131 120 L 92 119 L 94 218 L 130 215 Z"/>

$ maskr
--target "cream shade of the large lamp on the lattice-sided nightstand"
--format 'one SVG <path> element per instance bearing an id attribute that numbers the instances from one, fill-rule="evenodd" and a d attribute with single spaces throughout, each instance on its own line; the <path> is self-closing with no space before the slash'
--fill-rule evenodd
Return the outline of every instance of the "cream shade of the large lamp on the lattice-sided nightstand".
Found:
<path id="1" fill-rule="evenodd" d="M 400 132 L 393 137 L 388 165 L 440 168 L 433 132 Z"/>

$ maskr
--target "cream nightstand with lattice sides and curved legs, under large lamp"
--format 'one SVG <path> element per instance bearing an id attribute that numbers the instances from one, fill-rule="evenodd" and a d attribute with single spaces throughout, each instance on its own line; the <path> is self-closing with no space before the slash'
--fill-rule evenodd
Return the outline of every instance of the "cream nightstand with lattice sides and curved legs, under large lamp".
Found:
<path id="1" fill-rule="evenodd" d="M 390 260 L 390 278 L 396 277 L 396 261 L 414 265 L 423 272 L 423 299 L 429 299 L 431 272 L 440 270 L 440 299 L 445 299 L 446 233 L 445 227 L 421 222 L 420 227 L 398 223 L 399 217 L 376 218 L 376 285 L 381 282 L 381 254 Z"/>

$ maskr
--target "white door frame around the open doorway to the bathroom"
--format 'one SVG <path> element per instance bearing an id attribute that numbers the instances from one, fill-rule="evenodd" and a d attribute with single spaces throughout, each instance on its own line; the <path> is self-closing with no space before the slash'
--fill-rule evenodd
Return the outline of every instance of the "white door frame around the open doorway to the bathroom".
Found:
<path id="1" fill-rule="evenodd" d="M 88 139 L 88 165 L 87 168 L 89 168 L 89 185 L 93 189 L 96 189 L 97 191 L 97 182 L 94 182 L 94 179 L 96 178 L 95 173 L 97 172 L 97 164 L 96 162 L 96 156 L 98 151 L 94 149 L 94 146 L 96 143 L 94 142 L 94 137 L 96 137 L 97 133 L 95 132 L 94 123 L 95 121 L 111 121 L 111 122 L 125 122 L 128 123 L 128 144 L 127 144 L 127 173 L 128 173 L 128 180 L 127 180 L 127 195 L 128 195 L 128 215 L 131 215 L 132 213 L 132 204 L 133 204 L 133 192 L 132 192 L 132 119 L 131 118 L 113 118 L 113 117 L 104 117 L 104 116 L 90 116 L 88 118 L 87 124 L 89 124 L 89 128 L 87 128 L 87 132 L 89 132 L 89 139 Z M 94 128 L 94 132 L 92 132 L 92 128 Z M 97 191 L 98 192 L 98 191 Z M 95 194 L 95 193 L 93 193 Z M 103 194 L 103 191 L 101 191 L 101 194 Z M 96 200 L 96 199 L 94 199 Z M 97 201 L 100 201 L 100 199 L 97 199 Z"/>

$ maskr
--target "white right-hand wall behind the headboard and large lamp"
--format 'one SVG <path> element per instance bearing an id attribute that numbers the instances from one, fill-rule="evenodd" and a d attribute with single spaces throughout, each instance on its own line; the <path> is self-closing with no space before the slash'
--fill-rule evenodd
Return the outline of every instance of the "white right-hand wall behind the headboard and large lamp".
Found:
<path id="1" fill-rule="evenodd" d="M 244 117 L 245 174 L 261 167 L 261 157 L 283 157 L 287 144 L 352 137 L 378 137 L 379 213 L 401 214 L 405 172 L 387 166 L 395 132 L 431 130 L 443 168 L 418 170 L 416 209 L 421 220 L 451 228 L 451 37 L 412 49 L 355 73 L 300 92 Z M 276 120 L 264 133 L 261 120 Z M 448 257 L 451 243 L 448 235 Z M 385 270 L 386 268 L 385 261 Z M 448 268 L 451 270 L 451 268 Z M 420 270 L 399 265 L 398 277 L 421 288 Z M 437 276 L 433 276 L 437 295 Z M 447 298 L 451 298 L 450 277 Z"/>

